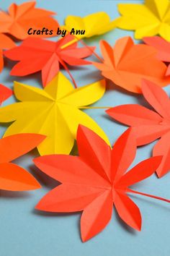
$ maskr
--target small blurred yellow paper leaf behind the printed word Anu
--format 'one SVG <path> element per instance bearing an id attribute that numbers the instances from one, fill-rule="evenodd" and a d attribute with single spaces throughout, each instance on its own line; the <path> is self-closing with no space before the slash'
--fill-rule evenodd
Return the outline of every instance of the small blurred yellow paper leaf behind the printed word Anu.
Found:
<path id="1" fill-rule="evenodd" d="M 75 35 L 76 38 L 91 38 L 91 36 L 102 35 L 114 29 L 117 27 L 118 22 L 119 18 L 111 21 L 106 12 L 96 12 L 86 15 L 85 17 L 69 15 L 66 17 L 65 25 L 63 25 L 62 28 L 69 32 L 71 32 L 72 29 L 75 30 L 73 35 Z M 84 33 L 81 34 L 81 30 Z"/>

